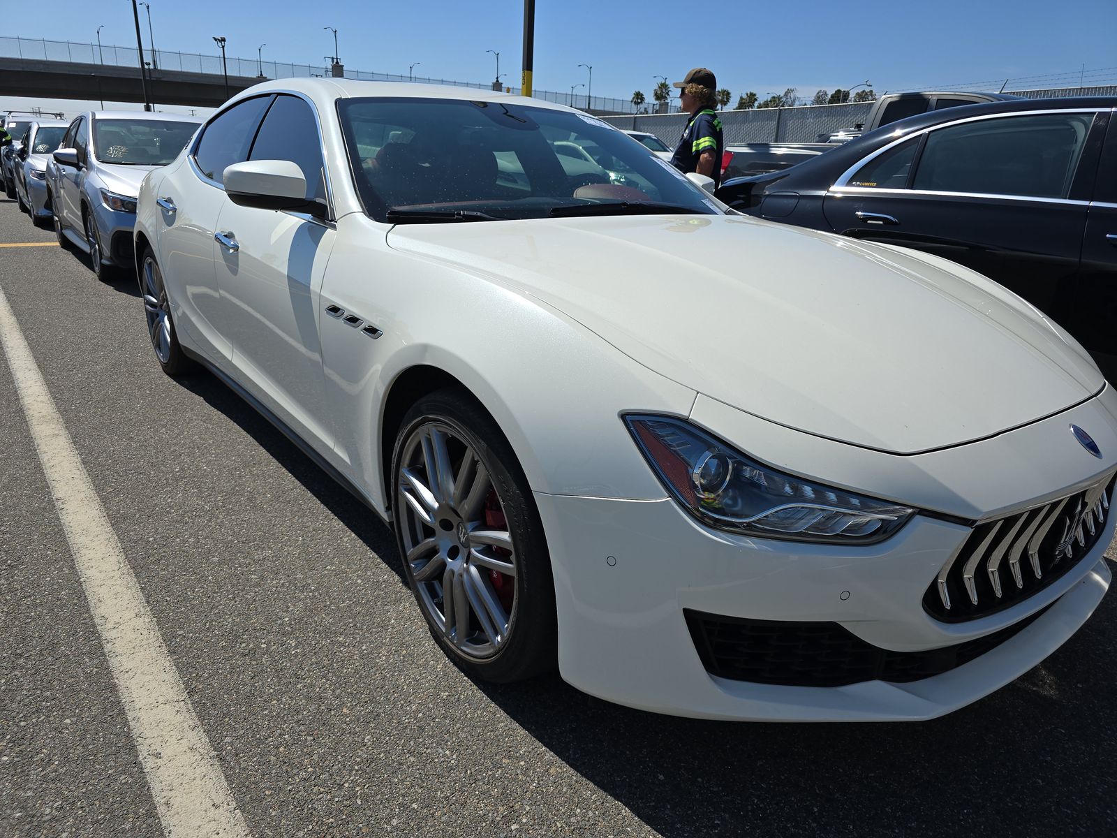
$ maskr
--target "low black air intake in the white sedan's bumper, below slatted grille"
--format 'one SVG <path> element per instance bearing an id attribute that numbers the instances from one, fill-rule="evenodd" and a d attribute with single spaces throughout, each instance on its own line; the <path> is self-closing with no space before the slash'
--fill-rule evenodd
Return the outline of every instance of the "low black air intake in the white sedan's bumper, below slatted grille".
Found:
<path id="1" fill-rule="evenodd" d="M 991 651 L 1046 610 L 992 635 L 926 651 L 881 649 L 837 622 L 746 620 L 690 609 L 682 613 L 710 675 L 787 687 L 840 687 L 942 675 Z"/>

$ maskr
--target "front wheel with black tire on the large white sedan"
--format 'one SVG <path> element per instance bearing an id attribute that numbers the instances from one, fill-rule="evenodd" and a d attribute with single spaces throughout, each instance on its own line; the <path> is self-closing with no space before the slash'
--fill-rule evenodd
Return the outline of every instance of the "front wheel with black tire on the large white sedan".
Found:
<path id="1" fill-rule="evenodd" d="M 441 473 L 428 461 L 441 461 Z M 392 454 L 392 498 L 408 583 L 447 656 L 494 683 L 554 669 L 554 581 L 543 524 L 512 446 L 465 390 L 424 396 L 404 416 Z M 447 599 L 443 584 L 456 596 Z"/>

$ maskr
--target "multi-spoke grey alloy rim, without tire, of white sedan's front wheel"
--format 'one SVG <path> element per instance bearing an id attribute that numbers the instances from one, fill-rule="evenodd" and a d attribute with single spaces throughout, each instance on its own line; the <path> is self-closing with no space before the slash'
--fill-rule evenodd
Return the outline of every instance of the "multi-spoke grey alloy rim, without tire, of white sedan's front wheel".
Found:
<path id="1" fill-rule="evenodd" d="M 431 420 L 407 438 L 398 469 L 404 563 L 424 616 L 464 657 L 494 657 L 515 626 L 518 562 L 488 468 Z"/>

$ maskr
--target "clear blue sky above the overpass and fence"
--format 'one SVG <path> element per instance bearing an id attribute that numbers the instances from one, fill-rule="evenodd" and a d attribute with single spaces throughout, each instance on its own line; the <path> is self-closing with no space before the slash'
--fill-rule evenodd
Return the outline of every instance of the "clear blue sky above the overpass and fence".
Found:
<path id="1" fill-rule="evenodd" d="M 1117 83 L 1117 0 L 798 0 L 700 4 L 666 0 L 537 0 L 535 88 L 569 92 L 586 80 L 579 64 L 593 65 L 593 93 L 651 98 L 655 75 L 669 80 L 708 66 L 719 86 L 739 93 L 819 88 L 869 79 L 886 89 L 951 87 L 1008 77 L 1078 73 Z M 128 0 L 54 0 L 35 13 L 6 7 L 4 35 L 89 42 L 98 26 L 106 45 L 135 45 Z M 140 9 L 144 39 L 147 23 Z M 216 54 L 214 35 L 228 55 L 322 65 L 338 53 L 347 68 L 488 82 L 500 53 L 506 84 L 518 85 L 523 0 L 151 0 L 155 46 Z M 1077 83 L 1077 76 L 1075 78 Z M 1042 80 L 1020 86 L 1044 86 Z M 2 92 L 2 84 L 0 84 Z M 579 88 L 584 94 L 585 88 Z M 0 95 L 0 108 L 27 99 Z"/>

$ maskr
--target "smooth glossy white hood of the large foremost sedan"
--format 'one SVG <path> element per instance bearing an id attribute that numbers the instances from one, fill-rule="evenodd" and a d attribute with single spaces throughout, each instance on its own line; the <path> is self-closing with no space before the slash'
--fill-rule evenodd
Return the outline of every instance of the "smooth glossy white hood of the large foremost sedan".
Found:
<path id="1" fill-rule="evenodd" d="M 813 230 L 643 216 L 397 226 L 388 242 L 498 277 L 714 399 L 886 451 L 981 439 L 1104 384 L 1003 287 Z"/>

